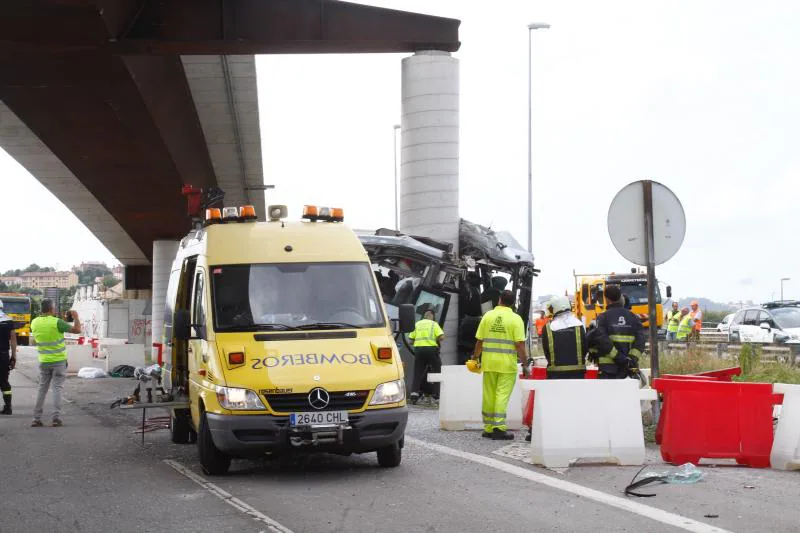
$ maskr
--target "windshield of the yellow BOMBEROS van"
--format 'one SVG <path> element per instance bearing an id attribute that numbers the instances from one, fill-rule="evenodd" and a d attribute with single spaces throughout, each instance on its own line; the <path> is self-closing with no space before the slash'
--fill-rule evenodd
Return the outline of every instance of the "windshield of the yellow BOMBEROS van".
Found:
<path id="1" fill-rule="evenodd" d="M 366 263 L 211 267 L 216 331 L 384 327 Z"/>

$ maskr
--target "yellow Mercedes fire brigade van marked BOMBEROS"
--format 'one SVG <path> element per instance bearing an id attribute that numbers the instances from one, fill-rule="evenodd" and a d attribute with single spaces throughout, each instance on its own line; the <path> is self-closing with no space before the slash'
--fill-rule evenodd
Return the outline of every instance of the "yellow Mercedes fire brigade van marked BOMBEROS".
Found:
<path id="1" fill-rule="evenodd" d="M 180 243 L 165 311 L 172 440 L 196 439 L 209 474 L 231 458 L 377 452 L 400 464 L 408 411 L 393 334 L 370 260 L 341 209 L 207 209 Z"/>

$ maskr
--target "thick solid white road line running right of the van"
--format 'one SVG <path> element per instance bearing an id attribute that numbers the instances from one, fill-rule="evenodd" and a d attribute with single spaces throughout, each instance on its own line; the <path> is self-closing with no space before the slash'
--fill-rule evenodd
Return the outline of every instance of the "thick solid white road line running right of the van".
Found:
<path id="1" fill-rule="evenodd" d="M 686 531 L 692 531 L 694 533 L 731 533 L 726 529 L 712 526 L 710 524 L 705 524 L 703 522 L 698 522 L 697 520 L 693 520 L 685 516 L 663 511 L 656 507 L 643 505 L 641 503 L 627 500 L 620 496 L 612 496 L 611 494 L 606 494 L 605 492 L 601 492 L 599 490 L 590 489 L 589 487 L 584 487 L 583 485 L 578 485 L 577 483 L 572 483 L 570 481 L 565 481 L 563 479 L 556 479 L 554 477 L 546 476 L 544 474 L 534 472 L 532 470 L 523 468 L 521 466 L 516 466 L 506 463 L 504 461 L 500 461 L 499 459 L 493 459 L 491 457 L 485 457 L 483 455 L 465 452 L 462 450 L 456 450 L 454 448 L 449 448 L 447 446 L 442 446 L 440 444 L 433 444 L 432 442 L 415 439 L 413 437 L 409 437 L 408 435 L 406 435 L 405 441 L 420 446 L 422 448 L 427 448 L 429 450 L 434 450 L 446 455 L 451 455 L 453 457 L 458 457 L 460 459 L 472 461 L 473 463 L 479 463 L 484 466 L 494 468 L 496 470 L 501 470 L 508 474 L 512 474 L 514 476 L 521 477 L 529 481 L 534 481 L 542 485 L 547 485 L 548 487 L 554 489 L 570 492 L 572 494 L 581 496 L 583 498 L 594 500 L 598 503 L 603 503 L 611 507 L 616 507 L 617 509 L 622 509 L 623 511 L 628 511 L 629 513 L 638 514 L 645 518 L 655 520 L 656 522 L 661 522 L 663 524 L 684 529 Z"/>

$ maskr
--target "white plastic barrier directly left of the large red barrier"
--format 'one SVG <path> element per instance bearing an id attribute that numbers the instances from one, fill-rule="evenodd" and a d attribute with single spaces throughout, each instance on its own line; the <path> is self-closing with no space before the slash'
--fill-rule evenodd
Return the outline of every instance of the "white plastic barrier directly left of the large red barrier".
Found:
<path id="1" fill-rule="evenodd" d="M 531 462 L 566 468 L 578 459 L 641 465 L 644 430 L 641 400 L 656 392 L 633 379 L 524 380 L 535 390 Z"/>

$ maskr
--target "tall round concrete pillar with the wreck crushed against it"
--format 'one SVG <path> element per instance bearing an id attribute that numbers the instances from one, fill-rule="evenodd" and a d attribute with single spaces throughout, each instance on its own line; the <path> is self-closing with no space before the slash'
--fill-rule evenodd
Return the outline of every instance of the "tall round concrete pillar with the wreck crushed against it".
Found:
<path id="1" fill-rule="evenodd" d="M 458 250 L 459 62 L 449 52 L 403 59 L 400 231 Z M 456 363 L 458 297 L 444 325 L 442 363 Z"/>

